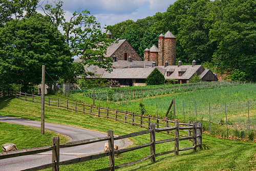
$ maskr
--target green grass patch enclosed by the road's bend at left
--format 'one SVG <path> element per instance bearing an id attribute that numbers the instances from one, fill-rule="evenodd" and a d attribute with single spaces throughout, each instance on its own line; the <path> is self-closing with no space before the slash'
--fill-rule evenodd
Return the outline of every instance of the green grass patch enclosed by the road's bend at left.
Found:
<path id="1" fill-rule="evenodd" d="M 67 136 L 49 130 L 45 131 L 45 135 L 40 134 L 41 130 L 37 127 L 0 122 L 0 144 L 14 143 L 18 149 L 52 145 L 52 137 L 55 136 L 59 136 L 60 143 L 69 140 Z"/>

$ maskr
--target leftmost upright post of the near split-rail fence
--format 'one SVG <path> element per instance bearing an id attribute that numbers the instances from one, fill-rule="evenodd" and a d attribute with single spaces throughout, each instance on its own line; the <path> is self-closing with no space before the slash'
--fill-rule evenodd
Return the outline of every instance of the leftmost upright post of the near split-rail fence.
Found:
<path id="1" fill-rule="evenodd" d="M 55 149 L 52 150 L 52 162 L 56 163 L 52 171 L 59 171 L 59 137 L 52 137 L 52 145 L 55 145 Z"/>

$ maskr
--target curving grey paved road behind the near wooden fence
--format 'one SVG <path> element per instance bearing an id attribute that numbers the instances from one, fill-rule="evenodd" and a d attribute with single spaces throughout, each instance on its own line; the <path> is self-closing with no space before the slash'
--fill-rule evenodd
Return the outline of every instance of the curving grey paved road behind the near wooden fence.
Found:
<path id="1" fill-rule="evenodd" d="M 41 126 L 40 121 L 32 121 L 32 120 L 20 119 L 15 117 L 6 117 L 6 116 L 0 116 L 0 122 L 23 124 L 23 125 L 33 126 L 33 127 Z M 67 135 L 72 138 L 72 141 L 106 136 L 105 133 L 100 133 L 100 132 L 87 130 L 87 129 L 80 129 L 78 127 L 73 127 L 73 126 L 54 124 L 54 123 L 45 123 L 45 129 Z M 76 147 L 61 148 L 60 161 L 102 153 L 105 142 L 97 142 L 93 144 L 80 145 Z M 115 144 L 118 145 L 119 149 L 126 148 L 131 143 L 132 142 L 129 140 L 115 141 Z M 9 159 L 2 159 L 0 160 L 0 171 L 23 170 L 23 169 L 27 169 L 27 168 L 39 166 L 42 164 L 47 164 L 47 163 L 51 163 L 51 152 L 45 152 L 45 153 L 40 153 L 40 154 L 30 155 L 30 156 L 21 156 L 21 157 L 9 158 Z"/>

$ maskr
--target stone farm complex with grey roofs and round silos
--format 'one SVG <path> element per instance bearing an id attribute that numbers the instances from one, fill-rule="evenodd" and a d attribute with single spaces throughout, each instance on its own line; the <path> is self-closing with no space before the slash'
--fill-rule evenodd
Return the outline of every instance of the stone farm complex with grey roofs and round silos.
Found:
<path id="1" fill-rule="evenodd" d="M 107 34 L 112 38 L 110 31 Z M 154 45 L 151 49 L 144 50 L 144 61 L 126 39 L 118 40 L 118 43 L 109 46 L 106 56 L 113 59 L 111 73 L 97 66 L 85 66 L 86 71 L 93 72 L 100 78 L 117 80 L 123 86 L 145 86 L 145 80 L 154 68 L 157 68 L 165 79 L 177 79 L 179 83 L 188 83 L 195 73 L 202 81 L 218 80 L 210 70 L 196 65 L 195 60 L 192 61 L 192 65 L 182 66 L 181 61 L 178 62 L 178 66 L 175 65 L 176 37 L 170 31 L 165 35 L 159 35 L 158 48 Z"/>

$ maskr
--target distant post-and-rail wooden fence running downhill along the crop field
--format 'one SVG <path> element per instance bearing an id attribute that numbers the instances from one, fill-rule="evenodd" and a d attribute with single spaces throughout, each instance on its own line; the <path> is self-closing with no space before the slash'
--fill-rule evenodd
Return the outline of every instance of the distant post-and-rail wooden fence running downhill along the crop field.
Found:
<path id="1" fill-rule="evenodd" d="M 38 102 L 40 103 L 41 97 L 33 94 L 27 94 L 27 93 L 22 93 L 19 92 L 18 94 L 15 93 L 13 94 L 15 98 L 19 98 L 22 100 L 26 101 L 31 101 L 31 102 Z M 86 113 L 90 115 L 96 115 L 98 117 L 105 117 L 109 119 L 114 119 L 114 120 L 119 120 L 123 121 L 125 123 L 130 123 L 132 125 L 139 125 L 140 127 L 146 127 L 147 129 L 150 129 L 151 123 L 155 123 L 157 128 L 165 126 L 168 127 L 169 123 L 175 123 L 175 121 L 168 120 L 167 117 L 165 119 L 159 119 L 153 118 L 150 115 L 144 116 L 142 114 L 136 115 L 134 112 L 130 113 L 127 111 L 118 111 L 109 109 L 107 108 L 101 108 L 100 106 L 93 106 L 84 104 L 84 103 L 77 103 L 77 102 L 72 102 L 67 100 L 62 100 L 59 98 L 50 98 L 50 97 L 45 97 L 45 105 L 52 105 L 52 106 L 57 106 L 59 108 L 65 108 L 67 110 L 73 110 L 75 112 L 81 112 L 81 113 Z M 183 125 L 190 125 L 190 121 L 188 123 L 180 123 Z"/>

